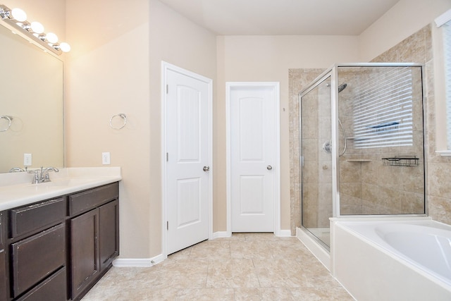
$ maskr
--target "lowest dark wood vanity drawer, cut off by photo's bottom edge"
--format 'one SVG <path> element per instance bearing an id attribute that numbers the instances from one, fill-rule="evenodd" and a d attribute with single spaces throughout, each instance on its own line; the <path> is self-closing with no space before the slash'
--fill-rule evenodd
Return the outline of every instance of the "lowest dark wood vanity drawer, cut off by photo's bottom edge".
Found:
<path id="1" fill-rule="evenodd" d="M 59 269 L 29 293 L 20 297 L 20 301 L 63 301 L 66 300 L 66 268 Z"/>

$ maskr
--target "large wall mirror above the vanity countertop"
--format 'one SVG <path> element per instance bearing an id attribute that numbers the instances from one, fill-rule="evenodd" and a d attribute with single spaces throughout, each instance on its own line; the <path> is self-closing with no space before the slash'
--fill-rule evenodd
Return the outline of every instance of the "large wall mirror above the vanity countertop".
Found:
<path id="1" fill-rule="evenodd" d="M 63 62 L 1 25 L 0 45 L 0 173 L 24 154 L 28 169 L 63 167 Z"/>

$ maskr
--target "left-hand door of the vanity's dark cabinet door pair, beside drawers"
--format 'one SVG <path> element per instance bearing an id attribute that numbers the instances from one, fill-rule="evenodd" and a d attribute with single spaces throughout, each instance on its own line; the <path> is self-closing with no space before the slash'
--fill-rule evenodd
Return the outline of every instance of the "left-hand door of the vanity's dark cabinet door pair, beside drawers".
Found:
<path id="1" fill-rule="evenodd" d="M 99 275 L 99 209 L 70 220 L 71 297 L 74 299 Z"/>

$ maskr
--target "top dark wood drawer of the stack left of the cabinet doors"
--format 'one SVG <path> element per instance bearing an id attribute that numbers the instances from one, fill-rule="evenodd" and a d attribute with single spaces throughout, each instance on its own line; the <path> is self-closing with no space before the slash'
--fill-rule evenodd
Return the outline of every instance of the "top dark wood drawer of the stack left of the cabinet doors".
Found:
<path id="1" fill-rule="evenodd" d="M 66 216 L 66 199 L 49 199 L 11 210 L 11 237 L 36 231 L 52 223 L 61 221 Z"/>

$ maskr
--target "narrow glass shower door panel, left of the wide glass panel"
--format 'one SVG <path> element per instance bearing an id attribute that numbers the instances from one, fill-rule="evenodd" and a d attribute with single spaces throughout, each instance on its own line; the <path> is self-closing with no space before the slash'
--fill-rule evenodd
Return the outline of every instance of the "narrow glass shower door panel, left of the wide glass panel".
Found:
<path id="1" fill-rule="evenodd" d="M 328 249 L 332 216 L 330 75 L 301 94 L 302 226 Z"/>

